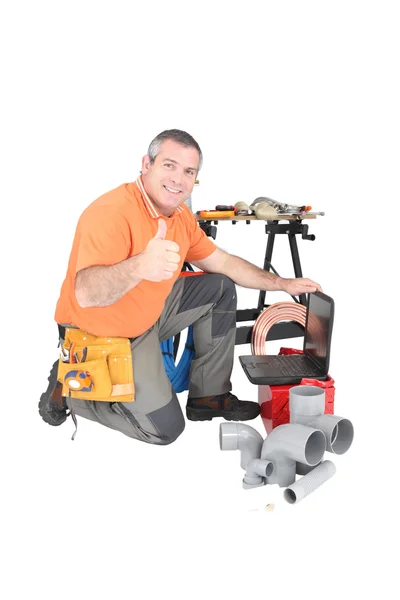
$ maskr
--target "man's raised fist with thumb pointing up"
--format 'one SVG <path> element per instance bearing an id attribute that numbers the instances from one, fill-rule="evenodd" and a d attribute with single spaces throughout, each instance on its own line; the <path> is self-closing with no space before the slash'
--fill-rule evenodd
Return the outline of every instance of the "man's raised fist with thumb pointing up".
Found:
<path id="1" fill-rule="evenodd" d="M 166 240 L 167 224 L 164 219 L 158 220 L 156 235 L 149 241 L 146 249 L 140 255 L 140 277 L 147 281 L 162 281 L 171 279 L 178 269 L 181 257 L 179 246 Z"/>

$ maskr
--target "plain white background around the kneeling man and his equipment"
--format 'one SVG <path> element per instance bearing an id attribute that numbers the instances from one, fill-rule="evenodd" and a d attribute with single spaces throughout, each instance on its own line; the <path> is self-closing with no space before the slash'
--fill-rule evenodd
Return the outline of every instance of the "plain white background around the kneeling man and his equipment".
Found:
<path id="1" fill-rule="evenodd" d="M 2 3 L 3 598 L 398 597 L 397 13 L 382 0 Z M 70 421 L 37 413 L 79 215 L 174 127 L 204 153 L 195 210 L 265 195 L 326 213 L 299 249 L 336 302 L 330 373 L 355 439 L 298 505 L 242 489 L 218 421 L 156 447 L 83 419 L 71 442 Z M 261 223 L 221 225 L 217 242 L 261 266 Z M 292 275 L 286 241 L 273 264 Z M 240 308 L 256 302 L 239 290 Z M 257 399 L 237 358 L 232 381 Z"/>

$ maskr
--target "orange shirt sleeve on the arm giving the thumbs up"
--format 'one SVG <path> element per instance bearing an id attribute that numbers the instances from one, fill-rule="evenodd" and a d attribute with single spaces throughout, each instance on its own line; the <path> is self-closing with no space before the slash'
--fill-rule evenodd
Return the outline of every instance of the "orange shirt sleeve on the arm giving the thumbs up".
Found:
<path id="1" fill-rule="evenodd" d="M 131 231 L 124 216 L 112 206 L 89 206 L 78 223 L 76 269 L 115 265 L 130 256 Z"/>

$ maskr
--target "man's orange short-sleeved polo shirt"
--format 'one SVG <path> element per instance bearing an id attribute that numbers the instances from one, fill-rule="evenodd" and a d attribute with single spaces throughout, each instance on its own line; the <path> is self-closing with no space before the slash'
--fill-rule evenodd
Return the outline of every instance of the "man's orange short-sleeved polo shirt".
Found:
<path id="1" fill-rule="evenodd" d="M 115 265 L 146 249 L 156 235 L 158 219 L 167 223 L 167 240 L 179 246 L 180 263 L 171 279 L 142 280 L 115 304 L 81 308 L 75 298 L 78 271 Z M 146 194 L 141 178 L 100 196 L 82 213 L 75 232 L 67 274 L 57 302 L 55 320 L 98 336 L 136 337 L 157 321 L 184 261 L 210 256 L 216 245 L 182 204 L 168 218 L 160 215 Z"/>

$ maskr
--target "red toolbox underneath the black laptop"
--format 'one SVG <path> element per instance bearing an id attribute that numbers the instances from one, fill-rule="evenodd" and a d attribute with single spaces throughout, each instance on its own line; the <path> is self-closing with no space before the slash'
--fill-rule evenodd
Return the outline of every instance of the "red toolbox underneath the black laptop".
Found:
<path id="1" fill-rule="evenodd" d="M 279 354 L 302 354 L 294 348 L 281 348 Z M 317 385 L 325 390 L 325 414 L 334 414 L 335 387 L 330 375 L 325 381 L 302 379 L 298 385 Z M 259 385 L 258 403 L 261 406 L 261 418 L 267 433 L 278 425 L 290 422 L 289 390 L 293 385 Z"/>

